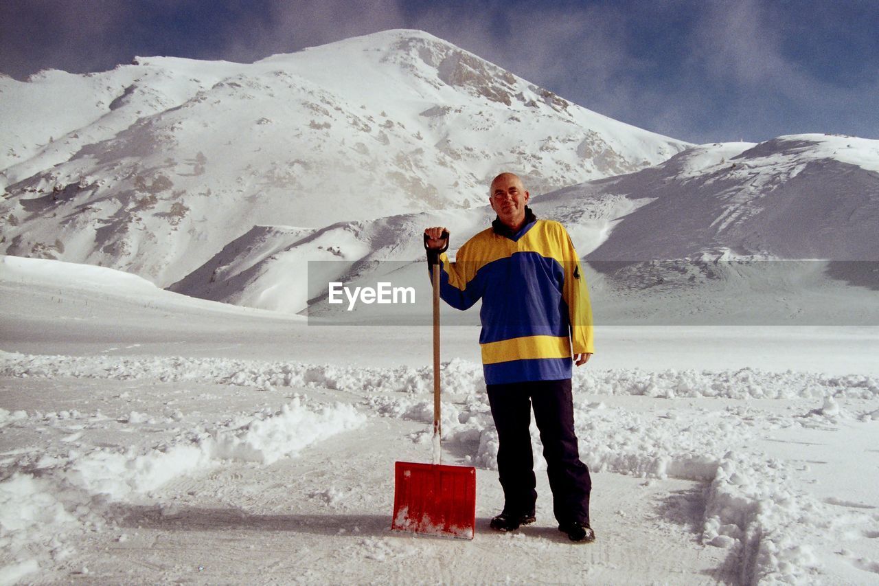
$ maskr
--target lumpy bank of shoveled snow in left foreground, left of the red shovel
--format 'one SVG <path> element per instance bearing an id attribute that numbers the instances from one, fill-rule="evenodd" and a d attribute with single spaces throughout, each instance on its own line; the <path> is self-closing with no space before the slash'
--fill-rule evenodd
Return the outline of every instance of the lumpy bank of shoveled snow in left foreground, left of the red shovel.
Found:
<path id="1" fill-rule="evenodd" d="M 21 372 L 21 376 L 40 374 L 39 370 Z M 105 374 L 119 376 L 120 370 Z M 120 422 L 173 425 L 181 418 L 179 413 L 155 418 L 132 412 Z M 170 480 L 204 472 L 222 461 L 271 465 L 364 421 L 366 416 L 350 405 L 311 405 L 296 397 L 277 412 L 262 409 L 237 414 L 146 450 L 71 447 L 83 435 L 77 432 L 60 438 L 60 450 L 6 452 L 4 480 L 0 481 L 0 544 L 8 552 L 4 563 L 9 561 L 7 556 L 24 561 L 0 569 L 0 582 L 12 583 L 36 571 L 43 552 L 48 551 L 55 562 L 66 559 L 73 551 L 68 531 L 103 531 L 112 523 L 107 514 L 111 502 L 136 500 Z M 0 432 L 5 428 L 101 429 L 111 422 L 100 412 L 27 414 L 0 409 Z"/>

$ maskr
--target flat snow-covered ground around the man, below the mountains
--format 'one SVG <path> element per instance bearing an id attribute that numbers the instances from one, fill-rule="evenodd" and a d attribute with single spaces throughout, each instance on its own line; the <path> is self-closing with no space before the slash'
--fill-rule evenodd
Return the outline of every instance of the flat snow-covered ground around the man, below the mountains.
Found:
<path id="1" fill-rule="evenodd" d="M 0 582 L 879 579 L 879 332 L 599 327 L 574 379 L 598 541 L 488 530 L 476 330 L 443 337 L 476 538 L 389 531 L 429 461 L 426 328 L 309 326 L 48 260 L 0 265 Z M 534 435 L 536 453 L 539 438 Z M 538 464 L 542 465 L 542 462 Z"/>

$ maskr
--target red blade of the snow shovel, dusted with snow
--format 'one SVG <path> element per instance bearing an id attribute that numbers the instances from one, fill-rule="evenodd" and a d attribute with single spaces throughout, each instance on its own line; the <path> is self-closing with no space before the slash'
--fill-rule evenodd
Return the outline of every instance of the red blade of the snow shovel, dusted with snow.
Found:
<path id="1" fill-rule="evenodd" d="M 472 539 L 476 468 L 397 462 L 391 529 Z"/>

